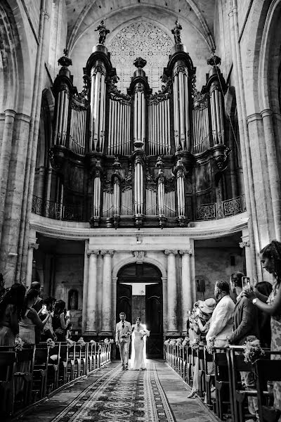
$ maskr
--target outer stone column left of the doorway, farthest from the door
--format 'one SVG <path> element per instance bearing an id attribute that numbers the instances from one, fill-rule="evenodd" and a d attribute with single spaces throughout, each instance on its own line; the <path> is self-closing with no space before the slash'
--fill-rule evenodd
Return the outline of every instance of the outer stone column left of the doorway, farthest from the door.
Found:
<path id="1" fill-rule="evenodd" d="M 96 293 L 97 293 L 97 258 L 98 250 L 89 249 L 89 273 L 87 291 L 87 313 L 85 334 L 96 335 Z"/>

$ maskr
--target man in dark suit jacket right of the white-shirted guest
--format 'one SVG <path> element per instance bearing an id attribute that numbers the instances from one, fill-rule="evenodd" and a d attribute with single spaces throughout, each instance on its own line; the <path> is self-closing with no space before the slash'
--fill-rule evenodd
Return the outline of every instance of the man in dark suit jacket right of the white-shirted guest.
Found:
<path id="1" fill-rule="evenodd" d="M 259 338 L 258 312 L 251 300 L 242 296 L 242 277 L 244 277 L 244 274 L 241 272 L 235 272 L 230 277 L 230 288 L 237 295 L 233 315 L 233 333 L 228 336 L 230 345 L 243 345 L 248 335 Z M 246 390 L 256 389 L 254 372 L 242 371 L 240 376 L 242 385 Z M 256 420 L 259 421 L 259 407 L 256 397 L 248 397 L 248 407 L 249 413 L 255 415 Z"/>

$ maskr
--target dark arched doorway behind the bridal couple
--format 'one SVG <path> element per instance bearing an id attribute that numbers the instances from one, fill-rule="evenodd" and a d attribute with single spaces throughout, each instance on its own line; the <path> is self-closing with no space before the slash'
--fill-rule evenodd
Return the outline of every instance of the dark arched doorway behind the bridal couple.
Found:
<path id="1" fill-rule="evenodd" d="M 128 264 L 117 274 L 116 313 L 126 313 L 126 320 L 134 323 L 138 316 L 150 330 L 147 342 L 148 357 L 163 356 L 163 294 L 162 274 L 155 265 Z"/>

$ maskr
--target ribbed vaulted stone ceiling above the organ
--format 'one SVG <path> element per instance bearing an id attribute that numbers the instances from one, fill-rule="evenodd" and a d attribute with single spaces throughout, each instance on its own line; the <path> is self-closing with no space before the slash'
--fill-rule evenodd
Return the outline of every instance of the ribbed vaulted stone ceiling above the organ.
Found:
<path id="1" fill-rule="evenodd" d="M 98 22 L 115 15 L 131 15 L 132 10 L 157 11 L 159 22 L 167 13 L 185 21 L 202 34 L 211 48 L 214 46 L 214 13 L 216 0 L 65 0 L 67 5 L 67 46 L 71 50 L 84 31 Z M 122 12 L 123 13 L 120 13 Z M 115 21 L 116 26 L 122 22 Z M 114 27 L 110 27 L 114 30 Z"/>

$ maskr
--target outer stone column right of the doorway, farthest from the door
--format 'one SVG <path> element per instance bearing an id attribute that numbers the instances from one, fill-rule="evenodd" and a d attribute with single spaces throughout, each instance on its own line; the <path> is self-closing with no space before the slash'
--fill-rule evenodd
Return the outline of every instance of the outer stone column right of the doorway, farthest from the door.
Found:
<path id="1" fill-rule="evenodd" d="M 191 271 L 190 271 L 190 256 L 192 249 L 180 250 L 181 258 L 181 293 L 182 293 L 182 316 L 183 316 L 183 331 L 182 335 L 186 335 L 186 321 L 188 319 L 188 311 L 191 311 L 193 305 Z"/>

